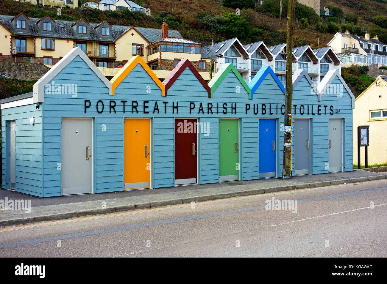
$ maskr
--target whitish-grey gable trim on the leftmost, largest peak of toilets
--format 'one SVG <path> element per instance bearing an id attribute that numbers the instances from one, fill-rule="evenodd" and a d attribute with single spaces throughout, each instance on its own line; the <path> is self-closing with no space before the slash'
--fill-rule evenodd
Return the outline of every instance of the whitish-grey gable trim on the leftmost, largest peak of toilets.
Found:
<path id="1" fill-rule="evenodd" d="M 75 57 L 80 56 L 83 61 L 90 67 L 90 69 L 98 76 L 99 79 L 109 88 L 109 95 L 111 95 L 111 83 L 109 80 L 102 74 L 101 71 L 97 68 L 97 66 L 91 62 L 91 60 L 87 57 L 87 55 L 80 49 L 79 47 L 75 47 L 70 50 L 61 60 L 58 61 L 57 64 L 54 65 L 53 68 L 48 70 L 48 72 L 43 75 L 36 83 L 34 83 L 33 90 L 33 102 L 44 102 L 44 88 L 55 76 L 60 73 Z"/>

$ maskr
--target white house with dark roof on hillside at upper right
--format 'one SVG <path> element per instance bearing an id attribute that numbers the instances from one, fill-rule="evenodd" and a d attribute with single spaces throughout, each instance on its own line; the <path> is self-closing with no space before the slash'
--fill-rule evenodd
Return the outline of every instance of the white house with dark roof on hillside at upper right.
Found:
<path id="1" fill-rule="evenodd" d="M 348 67 L 352 64 L 371 65 L 377 64 L 379 67 L 387 66 L 387 44 L 379 41 L 375 35 L 370 38 L 367 32 L 365 36 L 349 34 L 346 32 L 336 32 L 334 37 L 328 42 L 337 56 L 340 58 L 342 67 Z"/>

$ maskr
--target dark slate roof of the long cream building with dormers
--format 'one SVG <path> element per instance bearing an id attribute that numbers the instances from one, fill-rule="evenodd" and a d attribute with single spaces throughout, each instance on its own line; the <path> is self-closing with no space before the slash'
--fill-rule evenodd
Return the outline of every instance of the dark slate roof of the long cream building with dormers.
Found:
<path id="1" fill-rule="evenodd" d="M 105 1 L 105 0 L 104 0 Z M 50 38 L 64 38 L 64 39 L 79 39 L 79 40 L 90 40 L 90 41 L 116 41 L 116 39 L 121 36 L 125 31 L 130 29 L 131 27 L 127 26 L 111 26 L 111 39 L 101 38 L 99 37 L 98 32 L 94 29 L 94 27 L 99 24 L 89 23 L 90 26 L 88 28 L 88 35 L 85 36 L 77 36 L 77 32 L 75 28 L 72 26 L 75 24 L 73 21 L 64 21 L 64 20 L 55 20 L 53 23 L 53 29 L 55 31 L 54 34 L 45 34 L 43 31 L 40 31 L 38 25 L 40 19 L 38 18 L 29 18 L 28 26 L 29 32 L 19 32 L 15 31 L 14 24 L 11 23 L 11 20 L 14 16 L 8 15 L 0 15 L 0 24 L 9 29 L 13 34 L 21 35 L 21 36 L 35 36 L 35 37 L 50 37 Z M 63 27 L 60 27 L 63 26 Z M 143 27 L 135 27 L 137 31 L 139 31 L 142 36 L 144 36 L 150 43 L 154 43 L 162 39 L 161 29 L 148 29 Z M 179 31 L 168 30 L 169 36 L 182 37 Z"/>

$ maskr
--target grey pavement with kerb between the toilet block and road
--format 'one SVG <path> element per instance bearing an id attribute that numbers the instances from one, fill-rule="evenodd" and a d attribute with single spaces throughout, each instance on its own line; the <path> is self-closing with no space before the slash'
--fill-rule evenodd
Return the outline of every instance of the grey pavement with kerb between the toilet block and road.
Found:
<path id="1" fill-rule="evenodd" d="M 0 211 L 0 226 L 386 178 L 386 172 L 354 170 L 353 172 L 295 176 L 288 180 L 273 178 L 47 198 L 0 190 L 0 200 L 5 200 L 5 198 L 31 200 L 30 213 L 22 210 Z"/>

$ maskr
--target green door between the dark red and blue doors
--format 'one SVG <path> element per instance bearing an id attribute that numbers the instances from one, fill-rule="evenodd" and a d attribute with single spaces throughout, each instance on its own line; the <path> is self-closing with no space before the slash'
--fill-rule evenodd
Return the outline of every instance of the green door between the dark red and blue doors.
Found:
<path id="1" fill-rule="evenodd" d="M 239 121 L 219 120 L 219 181 L 239 180 Z"/>

